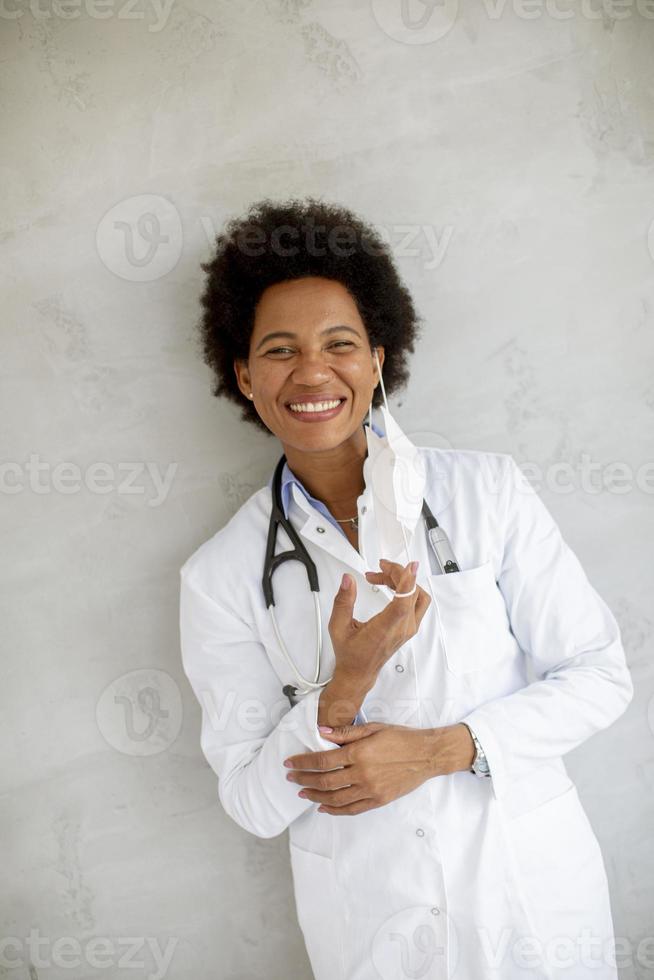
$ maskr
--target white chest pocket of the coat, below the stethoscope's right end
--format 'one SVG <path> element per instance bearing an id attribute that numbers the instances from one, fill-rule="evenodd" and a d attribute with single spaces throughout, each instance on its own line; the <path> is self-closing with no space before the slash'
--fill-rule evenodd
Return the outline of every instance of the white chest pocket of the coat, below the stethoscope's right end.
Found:
<path id="1" fill-rule="evenodd" d="M 475 568 L 428 578 L 452 673 L 483 670 L 509 654 L 509 617 L 490 560 Z"/>

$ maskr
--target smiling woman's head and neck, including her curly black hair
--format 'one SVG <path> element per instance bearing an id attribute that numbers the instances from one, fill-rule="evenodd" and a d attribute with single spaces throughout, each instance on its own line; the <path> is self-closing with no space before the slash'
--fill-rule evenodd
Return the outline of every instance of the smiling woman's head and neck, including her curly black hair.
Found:
<path id="1" fill-rule="evenodd" d="M 264 201 L 227 225 L 202 268 L 214 394 L 277 436 L 304 489 L 348 521 L 364 486 L 362 419 L 381 400 L 373 348 L 390 394 L 418 336 L 388 246 L 345 208 Z M 343 533 L 355 543 L 354 528 Z"/>

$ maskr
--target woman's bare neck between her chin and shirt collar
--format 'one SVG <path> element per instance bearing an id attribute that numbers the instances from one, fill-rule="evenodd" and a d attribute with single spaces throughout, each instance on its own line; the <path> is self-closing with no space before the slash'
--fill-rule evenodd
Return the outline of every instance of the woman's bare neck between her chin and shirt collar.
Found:
<path id="1" fill-rule="evenodd" d="M 302 485 L 334 517 L 356 517 L 357 499 L 365 489 L 363 463 L 368 455 L 363 426 L 333 449 L 305 452 L 285 445 L 284 455 Z"/>

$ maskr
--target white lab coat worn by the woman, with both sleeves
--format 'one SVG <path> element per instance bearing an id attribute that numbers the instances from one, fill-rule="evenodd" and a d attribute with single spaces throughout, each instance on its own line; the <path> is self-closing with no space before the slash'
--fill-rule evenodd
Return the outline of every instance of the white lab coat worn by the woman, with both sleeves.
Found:
<path id="1" fill-rule="evenodd" d="M 420 451 L 424 496 L 461 571 L 437 574 L 421 519 L 409 545 L 432 603 L 364 710 L 368 721 L 415 727 L 468 722 L 492 778 L 435 777 L 354 816 L 318 813 L 298 797 L 283 760 L 338 746 L 317 731 L 319 692 L 293 708 L 282 693 L 295 678 L 261 588 L 271 509 L 263 487 L 180 573 L 183 666 L 221 803 L 259 837 L 288 827 L 316 980 L 616 980 L 602 855 L 562 756 L 632 698 L 618 625 L 512 456 Z M 293 487 L 290 519 L 321 586 L 321 680 L 334 666 L 328 621 L 343 572 L 356 579 L 354 615 L 367 620 L 390 593 L 364 572 L 379 557 L 406 562 L 403 552 L 379 555 L 371 505 L 366 487 L 359 553 Z M 289 545 L 280 530 L 277 552 Z M 312 677 L 303 566 L 284 563 L 273 585 L 282 636 Z"/>

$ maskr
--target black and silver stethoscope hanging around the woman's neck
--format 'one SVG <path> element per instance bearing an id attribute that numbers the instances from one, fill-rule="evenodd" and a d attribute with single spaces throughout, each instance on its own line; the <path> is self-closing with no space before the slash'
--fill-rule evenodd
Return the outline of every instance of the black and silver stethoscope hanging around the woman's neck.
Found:
<path id="1" fill-rule="evenodd" d="M 268 541 L 266 543 L 266 559 L 263 566 L 263 594 L 266 599 L 266 608 L 270 611 L 270 616 L 272 618 L 273 629 L 275 631 L 275 636 L 277 637 L 277 642 L 279 643 L 280 650 L 282 651 L 286 662 L 293 671 L 293 674 L 299 681 L 300 688 L 295 687 L 293 684 L 285 684 L 282 688 L 284 695 L 289 699 L 291 707 L 296 703 L 297 694 L 308 694 L 309 691 L 316 690 L 320 687 L 325 687 L 329 684 L 331 678 L 325 681 L 319 681 L 320 676 L 320 657 L 322 655 L 322 620 L 320 615 L 320 602 L 318 601 L 318 593 L 320 591 L 320 586 L 318 584 L 318 572 L 316 570 L 315 563 L 313 562 L 308 551 L 304 547 L 302 540 L 291 524 L 287 520 L 284 514 L 284 508 L 282 505 L 282 470 L 284 468 L 284 463 L 286 462 L 286 456 L 282 455 L 279 462 L 275 468 L 275 473 L 272 481 L 272 510 L 270 513 L 270 525 L 268 528 Z M 454 557 L 454 552 L 452 551 L 452 546 L 450 545 L 447 534 L 443 528 L 439 525 L 438 521 L 432 514 L 431 510 L 427 505 L 427 501 L 423 498 L 422 501 L 422 516 L 425 519 L 425 524 L 427 527 L 427 537 L 429 538 L 429 543 L 432 550 L 436 556 L 436 561 L 438 562 L 438 567 L 442 574 L 449 574 L 451 572 L 458 572 L 459 565 L 456 558 Z M 282 551 L 278 555 L 275 554 L 275 543 L 277 540 L 277 530 L 279 527 L 283 527 L 284 531 L 290 538 L 293 549 L 289 551 Z M 275 569 L 285 561 L 300 561 L 306 568 L 307 576 L 309 578 L 309 588 L 313 593 L 315 613 L 316 613 L 316 662 L 314 669 L 314 678 L 309 680 L 304 677 L 298 670 L 296 664 L 293 662 L 288 650 L 286 649 L 286 644 L 284 643 L 281 633 L 279 632 L 279 627 L 277 625 L 277 619 L 275 618 L 275 599 L 273 596 L 272 588 L 272 576 Z"/>

